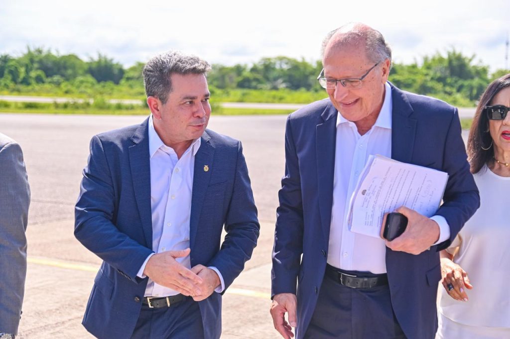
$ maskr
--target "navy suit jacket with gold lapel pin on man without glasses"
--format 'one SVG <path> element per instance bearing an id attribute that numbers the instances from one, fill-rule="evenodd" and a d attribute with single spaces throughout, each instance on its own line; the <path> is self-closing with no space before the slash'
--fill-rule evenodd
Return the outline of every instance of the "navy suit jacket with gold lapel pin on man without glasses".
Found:
<path id="1" fill-rule="evenodd" d="M 83 325 L 99 338 L 128 338 L 147 279 L 138 270 L 152 253 L 148 119 L 94 136 L 75 207 L 75 237 L 103 259 Z M 207 165 L 208 171 L 203 168 Z M 225 225 L 227 236 L 221 244 Z M 241 143 L 206 130 L 195 155 L 190 218 L 191 266 L 214 266 L 227 288 L 259 236 Z M 200 301 L 206 338 L 221 333 L 221 295 Z"/>

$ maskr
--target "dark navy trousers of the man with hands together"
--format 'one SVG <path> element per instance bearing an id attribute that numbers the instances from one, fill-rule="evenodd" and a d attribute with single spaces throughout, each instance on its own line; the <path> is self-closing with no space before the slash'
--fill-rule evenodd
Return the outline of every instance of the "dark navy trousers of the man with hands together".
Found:
<path id="1" fill-rule="evenodd" d="M 142 305 L 132 339 L 203 339 L 198 302 L 188 297 L 170 307 Z"/>

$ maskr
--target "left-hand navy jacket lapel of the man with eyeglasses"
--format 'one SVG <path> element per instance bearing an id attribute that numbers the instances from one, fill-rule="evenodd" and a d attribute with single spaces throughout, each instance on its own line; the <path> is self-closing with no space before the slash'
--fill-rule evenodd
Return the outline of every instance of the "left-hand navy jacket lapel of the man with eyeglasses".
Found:
<path id="1" fill-rule="evenodd" d="M 319 212 L 324 239 L 329 239 L 331 208 L 333 206 L 333 179 L 335 175 L 335 146 L 338 111 L 331 103 L 321 114 L 322 123 L 316 127 L 317 182 Z"/>

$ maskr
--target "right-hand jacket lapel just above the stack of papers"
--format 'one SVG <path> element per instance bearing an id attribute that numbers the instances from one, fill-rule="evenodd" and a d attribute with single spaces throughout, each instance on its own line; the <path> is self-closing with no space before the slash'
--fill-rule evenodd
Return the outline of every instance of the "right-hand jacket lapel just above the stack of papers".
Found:
<path id="1" fill-rule="evenodd" d="M 392 118 L 391 118 L 391 158 L 410 163 L 413 158 L 413 147 L 416 134 L 416 119 L 413 108 L 405 94 L 391 85 Z"/>

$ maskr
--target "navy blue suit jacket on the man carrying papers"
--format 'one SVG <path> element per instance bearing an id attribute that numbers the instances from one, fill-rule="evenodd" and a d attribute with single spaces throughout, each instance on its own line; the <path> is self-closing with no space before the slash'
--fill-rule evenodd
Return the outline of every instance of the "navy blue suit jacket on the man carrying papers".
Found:
<path id="1" fill-rule="evenodd" d="M 469 172 L 457 110 L 393 85 L 392 102 L 392 158 L 449 174 L 444 203 L 436 214 L 448 222 L 450 239 L 419 255 L 386 249 L 398 322 L 407 337 L 431 339 L 437 329 L 438 251 L 447 247 L 476 211 L 479 195 Z M 297 293 L 297 339 L 310 323 L 326 267 L 337 114 L 329 99 L 324 99 L 287 119 L 286 167 L 279 191 L 271 278 L 272 295 Z"/>

